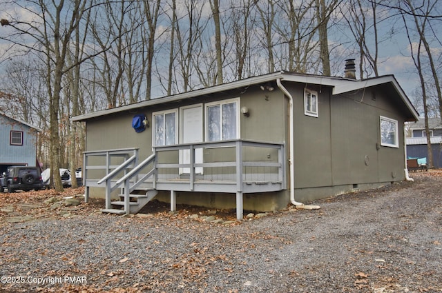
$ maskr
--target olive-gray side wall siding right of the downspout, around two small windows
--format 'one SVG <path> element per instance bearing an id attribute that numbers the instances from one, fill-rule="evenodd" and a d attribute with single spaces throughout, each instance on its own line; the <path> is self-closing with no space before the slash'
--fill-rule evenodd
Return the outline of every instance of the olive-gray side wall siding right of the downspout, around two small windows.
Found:
<path id="1" fill-rule="evenodd" d="M 404 119 L 387 94 L 372 99 L 370 89 L 337 96 L 309 89 L 318 90 L 317 118 L 304 114 L 302 88 L 292 90 L 297 190 L 404 179 Z M 398 121 L 398 148 L 381 146 L 380 116 Z"/>

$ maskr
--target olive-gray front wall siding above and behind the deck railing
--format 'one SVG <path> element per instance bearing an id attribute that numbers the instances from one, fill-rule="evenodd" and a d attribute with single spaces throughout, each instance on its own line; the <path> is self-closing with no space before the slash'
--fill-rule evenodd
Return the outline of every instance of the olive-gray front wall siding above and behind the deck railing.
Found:
<path id="1" fill-rule="evenodd" d="M 206 97 L 205 99 L 195 99 L 195 101 L 184 101 L 183 103 L 172 103 L 165 105 L 158 105 L 155 108 L 140 109 L 137 112 L 122 112 L 115 115 L 107 115 L 99 119 L 90 119 L 86 123 L 86 150 L 113 150 L 119 148 L 138 148 L 140 159 L 144 159 L 152 154 L 152 113 L 164 110 L 179 109 L 192 103 L 202 103 L 203 116 L 206 111 L 206 103 L 215 101 L 223 101 L 228 99 L 240 98 L 239 108 L 249 108 L 249 117 L 244 117 L 240 114 L 240 139 L 247 139 L 262 142 L 276 142 L 285 143 L 287 129 L 287 99 L 279 90 L 273 92 L 262 92 L 256 88 L 250 88 L 248 92 L 238 93 L 224 92 L 222 94 L 213 95 L 213 97 Z M 240 110 L 240 109 L 239 109 Z M 145 114 L 150 121 L 150 127 L 146 128 L 144 132 L 136 133 L 133 130 L 131 123 L 135 114 Z M 178 111 L 180 115 L 180 111 Z M 178 121 L 181 121 L 177 117 Z M 179 122 L 180 123 L 180 122 Z M 205 133 L 205 120 L 203 117 L 203 131 Z M 178 124 L 177 131 L 180 131 Z M 287 150 L 287 148 L 286 148 Z M 178 154 L 171 154 L 168 159 L 177 161 Z M 277 161 L 278 151 L 267 149 L 253 149 L 248 148 L 244 153 L 246 160 L 265 160 Z M 216 161 L 234 161 L 234 150 L 227 149 L 206 149 L 204 150 L 204 162 Z M 163 161 L 166 163 L 166 161 Z M 173 170 L 170 170 L 171 172 Z M 256 170 L 261 172 L 262 170 Z M 204 174 L 231 174 L 231 168 L 206 168 Z"/>

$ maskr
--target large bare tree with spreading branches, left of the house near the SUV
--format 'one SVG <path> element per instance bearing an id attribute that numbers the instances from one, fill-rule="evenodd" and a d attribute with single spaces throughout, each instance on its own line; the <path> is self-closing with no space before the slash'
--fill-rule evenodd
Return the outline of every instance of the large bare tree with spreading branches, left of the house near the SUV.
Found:
<path id="1" fill-rule="evenodd" d="M 55 184 L 57 191 L 61 191 L 63 190 L 61 178 L 54 174 L 59 172 L 61 159 L 59 110 L 63 94 L 63 79 L 73 68 L 66 65 L 66 56 L 72 45 L 73 34 L 84 21 L 84 14 L 91 9 L 92 2 L 61 0 L 55 3 L 28 0 L 13 1 L 12 5 L 27 10 L 29 14 L 32 14 L 33 19 L 25 21 L 11 16 L 10 19 L 1 20 L 2 26 L 12 28 L 12 30 L 0 39 L 8 41 L 12 46 L 21 46 L 30 52 L 37 52 L 44 56 L 46 88 L 49 97 L 50 166 L 53 177 L 51 182 Z"/>

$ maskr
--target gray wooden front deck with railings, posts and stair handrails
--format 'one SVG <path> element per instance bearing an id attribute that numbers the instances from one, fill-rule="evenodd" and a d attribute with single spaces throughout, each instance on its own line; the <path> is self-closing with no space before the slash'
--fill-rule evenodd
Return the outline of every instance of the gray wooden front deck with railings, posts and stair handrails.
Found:
<path id="1" fill-rule="evenodd" d="M 204 155 L 198 157 L 198 152 Z M 242 194 L 286 189 L 283 143 L 238 139 L 168 145 L 153 148 L 142 162 L 135 148 L 99 150 L 85 152 L 84 162 L 86 200 L 90 187 L 102 187 L 106 210 L 111 210 L 111 192 L 120 188 L 126 213 L 135 190 L 169 191 L 171 202 L 175 192 L 225 192 L 236 194 L 237 216 L 242 219 Z"/>

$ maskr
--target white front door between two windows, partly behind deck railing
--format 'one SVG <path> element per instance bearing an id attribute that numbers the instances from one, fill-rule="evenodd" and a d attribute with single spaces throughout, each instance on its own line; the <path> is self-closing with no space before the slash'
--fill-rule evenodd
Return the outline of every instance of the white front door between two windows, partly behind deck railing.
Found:
<path id="1" fill-rule="evenodd" d="M 181 108 L 181 143 L 202 142 L 202 105 Z M 180 152 L 180 163 L 190 163 L 190 150 Z M 195 163 L 202 163 L 202 149 L 195 150 Z M 180 168 L 180 174 L 190 174 L 190 168 Z M 195 168 L 195 174 L 202 174 L 202 167 Z"/>

